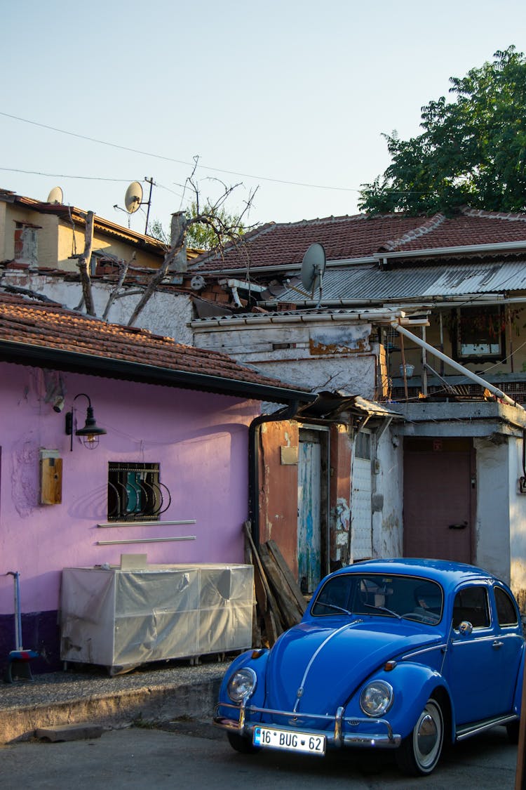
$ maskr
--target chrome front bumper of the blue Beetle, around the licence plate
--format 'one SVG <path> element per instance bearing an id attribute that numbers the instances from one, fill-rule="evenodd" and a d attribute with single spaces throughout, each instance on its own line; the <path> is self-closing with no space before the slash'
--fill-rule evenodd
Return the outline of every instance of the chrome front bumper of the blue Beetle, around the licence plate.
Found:
<path id="1" fill-rule="evenodd" d="M 237 718 L 229 718 L 220 716 L 219 710 L 229 708 L 237 712 Z M 250 717 L 252 714 L 263 715 L 263 717 L 272 717 L 272 723 L 265 720 L 254 721 Z M 271 727 L 274 730 L 297 730 L 297 732 L 308 732 L 309 735 L 323 735 L 326 738 L 327 747 L 340 748 L 340 747 L 379 747 L 381 749 L 396 749 L 400 746 L 401 735 L 394 734 L 391 725 L 385 719 L 370 719 L 370 718 L 356 718 L 345 717 L 344 709 L 338 708 L 335 716 L 326 716 L 321 714 L 305 714 L 300 716 L 297 713 L 287 712 L 283 710 L 271 710 L 268 708 L 257 708 L 253 705 L 232 705 L 230 703 L 222 702 L 216 706 L 214 724 L 218 727 L 229 730 L 229 732 L 237 732 L 238 735 L 252 735 L 255 727 L 265 726 Z M 276 717 L 286 718 L 285 724 L 275 724 Z M 301 721 L 308 719 L 309 724 L 304 728 L 301 726 Z M 322 724 L 331 724 L 331 728 L 313 728 L 311 722 L 317 720 Z M 360 725 L 366 724 L 366 729 L 358 729 Z M 375 732 L 371 732 L 375 728 Z M 376 728 L 378 728 L 376 730 Z"/>

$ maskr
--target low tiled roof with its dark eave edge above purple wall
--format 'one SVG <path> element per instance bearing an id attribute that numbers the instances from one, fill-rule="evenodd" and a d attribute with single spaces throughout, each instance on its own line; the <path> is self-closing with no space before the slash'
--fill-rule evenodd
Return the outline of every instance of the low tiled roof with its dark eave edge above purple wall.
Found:
<path id="1" fill-rule="evenodd" d="M 17 348 L 25 354 L 17 356 Z M 56 367 L 61 359 L 67 360 L 66 370 L 73 369 L 74 363 L 77 371 L 93 372 L 95 368 L 110 378 L 151 380 L 175 386 L 185 386 L 188 380 L 186 386 L 215 392 L 226 392 L 228 386 L 229 394 L 239 393 L 240 397 L 248 396 L 247 389 L 252 389 L 255 398 L 259 388 L 283 389 L 285 396 L 289 390 L 299 391 L 256 373 L 220 352 L 183 345 L 172 337 L 161 337 L 146 329 L 108 324 L 73 310 L 0 294 L 0 359 L 22 362 L 28 352 L 32 359 L 38 352 L 41 363 L 49 357 Z M 200 376 L 203 386 L 199 386 Z M 279 394 L 260 399 L 285 402 L 287 398 L 279 399 Z"/>

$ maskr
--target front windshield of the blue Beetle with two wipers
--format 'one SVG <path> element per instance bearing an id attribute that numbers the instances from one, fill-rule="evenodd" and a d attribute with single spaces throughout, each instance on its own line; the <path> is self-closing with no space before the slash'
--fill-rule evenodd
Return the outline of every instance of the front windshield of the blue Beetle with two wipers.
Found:
<path id="1" fill-rule="evenodd" d="M 383 615 L 435 624 L 442 617 L 442 588 L 412 576 L 338 574 L 320 589 L 311 607 L 315 617 Z"/>

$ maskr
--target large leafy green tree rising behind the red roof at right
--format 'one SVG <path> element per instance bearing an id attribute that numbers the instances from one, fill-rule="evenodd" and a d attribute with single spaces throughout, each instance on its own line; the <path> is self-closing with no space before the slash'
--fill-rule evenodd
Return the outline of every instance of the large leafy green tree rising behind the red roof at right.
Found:
<path id="1" fill-rule="evenodd" d="M 423 134 L 384 134 L 392 162 L 362 184 L 359 208 L 371 213 L 450 212 L 459 205 L 526 210 L 526 59 L 515 47 L 493 62 L 451 77 L 453 102 L 422 107 Z"/>

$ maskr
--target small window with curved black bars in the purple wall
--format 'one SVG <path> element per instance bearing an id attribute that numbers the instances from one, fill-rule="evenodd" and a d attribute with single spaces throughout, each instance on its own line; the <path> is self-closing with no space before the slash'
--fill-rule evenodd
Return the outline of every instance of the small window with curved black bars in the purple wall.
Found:
<path id="1" fill-rule="evenodd" d="M 159 464 L 108 464 L 108 521 L 155 521 L 170 506 Z"/>

